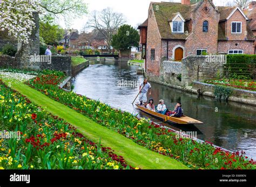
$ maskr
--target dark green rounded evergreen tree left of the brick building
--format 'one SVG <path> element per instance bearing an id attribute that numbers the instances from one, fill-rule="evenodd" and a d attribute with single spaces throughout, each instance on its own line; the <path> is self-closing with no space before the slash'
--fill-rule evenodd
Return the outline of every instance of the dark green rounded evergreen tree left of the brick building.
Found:
<path id="1" fill-rule="evenodd" d="M 117 34 L 113 35 L 112 46 L 118 50 L 139 46 L 139 33 L 130 25 L 122 25 Z"/>

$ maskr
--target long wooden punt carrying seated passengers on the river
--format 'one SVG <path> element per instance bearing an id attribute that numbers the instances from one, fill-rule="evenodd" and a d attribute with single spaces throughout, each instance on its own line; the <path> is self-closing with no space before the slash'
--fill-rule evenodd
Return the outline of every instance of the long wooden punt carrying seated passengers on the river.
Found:
<path id="1" fill-rule="evenodd" d="M 180 118 L 176 118 L 176 117 L 170 117 L 170 116 L 166 116 L 164 114 L 160 114 L 160 113 L 157 113 L 157 112 L 153 112 L 149 109 L 146 109 L 145 107 L 143 106 L 140 106 L 138 104 L 136 104 L 136 106 L 138 107 L 139 110 L 142 110 L 143 112 L 147 113 L 147 114 L 150 114 L 151 116 L 155 117 L 155 118 L 158 118 L 160 120 L 163 120 L 164 122 L 168 122 L 168 123 L 172 123 L 172 124 L 180 124 L 180 125 L 189 125 L 189 124 L 192 124 L 192 125 L 196 125 L 196 124 L 204 124 L 203 122 L 201 121 L 198 121 L 196 119 L 193 119 L 193 118 L 190 118 L 190 117 L 187 117 L 187 116 L 183 116 L 183 117 L 180 117 Z"/>

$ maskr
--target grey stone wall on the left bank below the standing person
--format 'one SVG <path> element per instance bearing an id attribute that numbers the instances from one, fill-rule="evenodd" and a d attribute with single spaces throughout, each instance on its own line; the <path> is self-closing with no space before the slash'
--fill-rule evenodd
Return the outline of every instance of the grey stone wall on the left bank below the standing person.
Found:
<path id="1" fill-rule="evenodd" d="M 71 76 L 71 57 L 70 56 L 52 56 L 51 63 L 42 62 L 40 69 L 52 69 L 63 71 L 66 75 Z"/>

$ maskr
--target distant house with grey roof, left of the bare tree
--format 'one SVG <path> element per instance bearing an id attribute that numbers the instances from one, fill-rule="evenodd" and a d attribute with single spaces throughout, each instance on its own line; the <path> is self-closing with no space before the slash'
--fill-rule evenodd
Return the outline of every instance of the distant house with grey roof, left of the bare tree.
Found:
<path id="1" fill-rule="evenodd" d="M 71 48 L 75 49 L 77 48 L 77 39 L 79 37 L 78 30 L 65 30 L 64 38 L 60 40 L 60 45 L 62 45 L 64 48 Z"/>

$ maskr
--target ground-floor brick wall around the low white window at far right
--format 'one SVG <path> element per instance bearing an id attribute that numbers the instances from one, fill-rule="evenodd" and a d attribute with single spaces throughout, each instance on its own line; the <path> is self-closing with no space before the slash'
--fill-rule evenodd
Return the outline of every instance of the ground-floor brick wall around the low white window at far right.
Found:
<path id="1" fill-rule="evenodd" d="M 253 41 L 219 41 L 218 53 L 228 53 L 230 49 L 242 49 L 244 54 L 254 54 Z"/>

